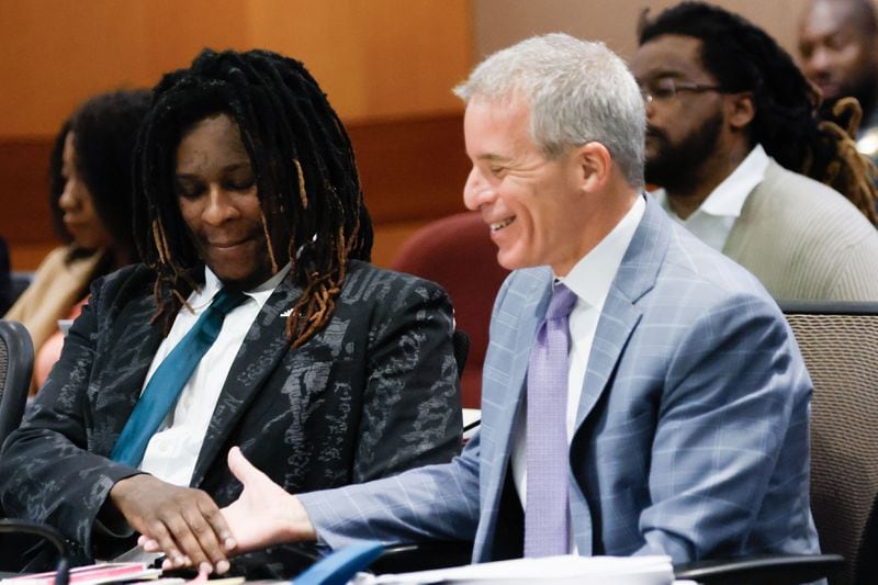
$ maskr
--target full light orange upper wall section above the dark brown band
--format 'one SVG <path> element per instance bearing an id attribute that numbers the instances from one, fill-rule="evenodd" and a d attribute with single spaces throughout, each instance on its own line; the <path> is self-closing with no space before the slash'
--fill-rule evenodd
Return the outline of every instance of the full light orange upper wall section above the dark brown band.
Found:
<path id="1" fill-rule="evenodd" d="M 469 0 L 0 0 L 0 137 L 55 132 L 85 98 L 153 86 L 204 46 L 302 59 L 345 120 L 459 112 Z"/>

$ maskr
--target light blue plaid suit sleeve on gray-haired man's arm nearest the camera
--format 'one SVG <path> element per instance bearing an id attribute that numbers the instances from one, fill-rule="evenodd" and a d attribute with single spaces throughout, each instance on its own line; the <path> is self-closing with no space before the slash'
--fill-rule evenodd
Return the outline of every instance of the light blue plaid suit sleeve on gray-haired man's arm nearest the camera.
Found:
<path id="1" fill-rule="evenodd" d="M 728 299 L 697 316 L 676 347 L 638 553 L 679 563 L 783 550 L 802 518 L 773 518 L 770 509 L 797 498 L 808 509 L 811 394 L 786 320 L 758 297 Z"/>

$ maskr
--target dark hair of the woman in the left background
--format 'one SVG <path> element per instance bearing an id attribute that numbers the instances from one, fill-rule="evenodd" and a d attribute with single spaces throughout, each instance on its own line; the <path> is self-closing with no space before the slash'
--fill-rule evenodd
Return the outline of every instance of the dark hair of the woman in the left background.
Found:
<path id="1" fill-rule="evenodd" d="M 132 166 L 134 143 L 140 121 L 149 109 L 148 90 L 120 90 L 101 93 L 82 103 L 64 123 L 55 138 L 49 159 L 49 209 L 55 233 L 66 244 L 74 244 L 67 261 L 86 257 L 94 250 L 76 246 L 64 225 L 60 198 L 66 179 L 63 173 L 64 146 L 74 134 L 76 167 L 91 194 L 94 210 L 112 236 L 122 257 L 134 261 L 137 248 L 132 237 Z M 98 261 L 91 280 L 117 268 L 108 250 Z"/>

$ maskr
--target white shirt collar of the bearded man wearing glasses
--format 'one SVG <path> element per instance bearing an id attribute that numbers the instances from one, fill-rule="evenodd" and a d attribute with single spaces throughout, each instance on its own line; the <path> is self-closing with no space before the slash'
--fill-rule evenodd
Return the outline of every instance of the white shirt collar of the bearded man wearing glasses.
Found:
<path id="1" fill-rule="evenodd" d="M 719 217 L 740 217 L 747 195 L 765 179 L 765 171 L 768 168 L 769 160 L 761 144 L 754 146 L 734 171 L 701 202 L 696 213 L 700 212 Z M 677 217 L 664 189 L 657 189 L 652 194 L 662 205 L 662 209 L 671 216 Z"/>

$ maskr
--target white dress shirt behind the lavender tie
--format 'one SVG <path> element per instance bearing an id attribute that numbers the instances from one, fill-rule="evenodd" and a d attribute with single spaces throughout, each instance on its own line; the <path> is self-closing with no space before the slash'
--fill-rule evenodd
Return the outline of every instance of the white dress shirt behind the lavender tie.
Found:
<path id="1" fill-rule="evenodd" d="M 612 281 L 619 271 L 631 238 L 640 225 L 646 201 L 638 196 L 634 204 L 616 224 L 616 227 L 585 255 L 566 277 L 555 278 L 571 291 L 576 293 L 576 303 L 570 314 L 570 369 L 567 370 L 567 445 L 573 437 L 576 424 L 576 410 L 579 407 L 579 397 L 585 383 L 585 372 L 588 367 L 588 356 L 592 352 L 592 342 L 595 339 L 597 322 L 604 310 Z M 521 507 L 527 506 L 527 408 L 521 408 L 513 430 L 513 480 L 515 481 Z M 571 527 L 572 530 L 572 527 Z M 572 532 L 571 532 L 572 535 Z M 571 537 L 571 543 L 573 539 Z M 573 549 L 574 552 L 575 548 Z"/>

